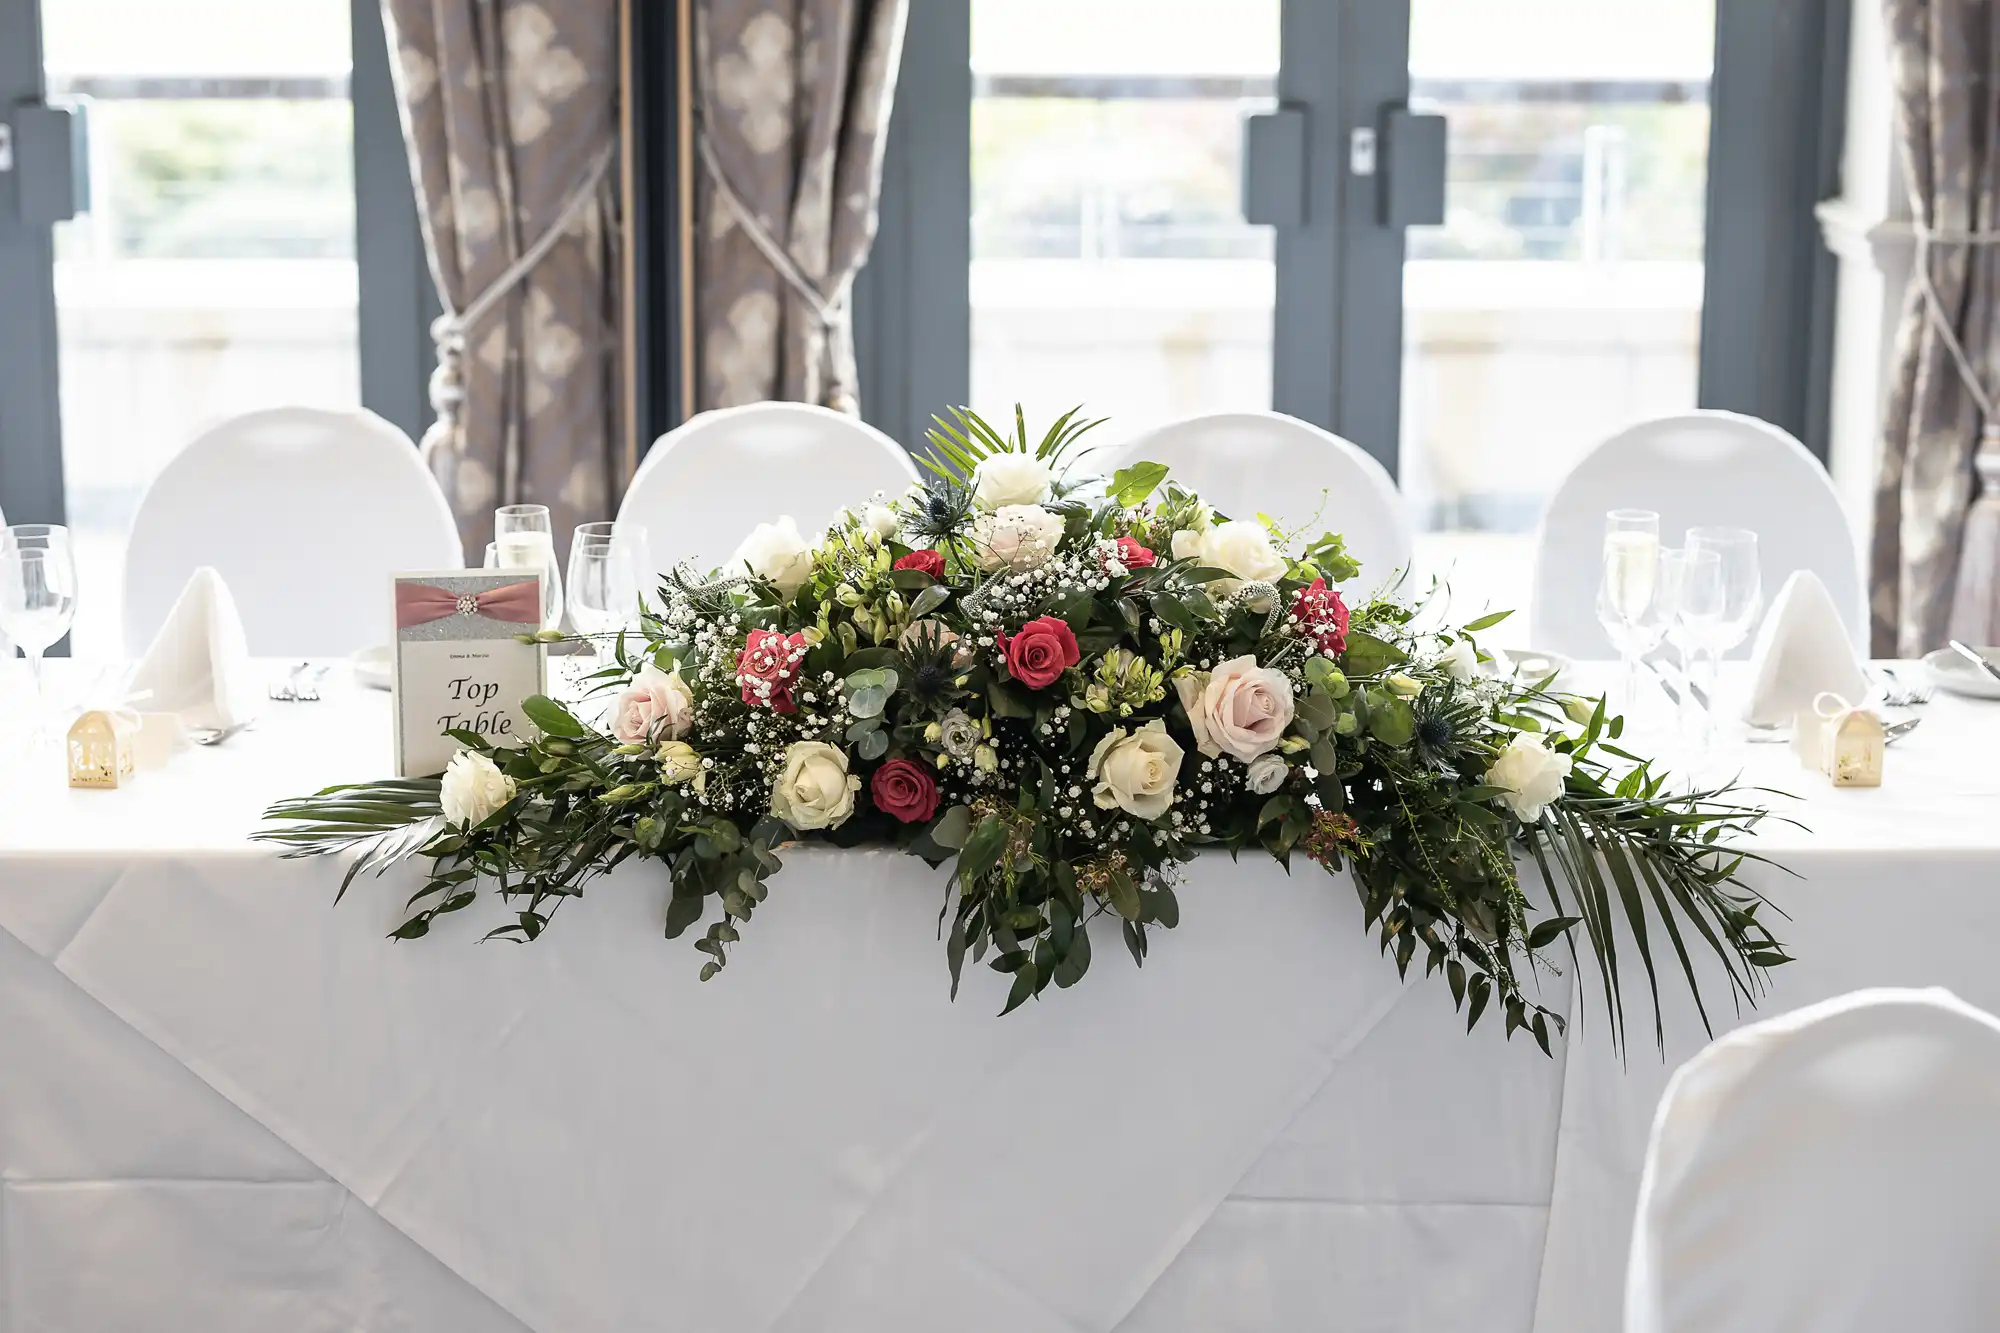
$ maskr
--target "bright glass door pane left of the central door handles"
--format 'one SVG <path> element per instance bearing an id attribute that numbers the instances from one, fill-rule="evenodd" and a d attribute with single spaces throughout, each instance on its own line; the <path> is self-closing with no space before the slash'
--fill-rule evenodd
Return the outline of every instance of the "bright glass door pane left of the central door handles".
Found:
<path id="1" fill-rule="evenodd" d="M 1272 404 L 1272 228 L 1242 118 L 1278 0 L 974 0 L 972 406 L 1076 404 L 1100 444 Z M 898 108 L 900 114 L 914 114 Z"/>

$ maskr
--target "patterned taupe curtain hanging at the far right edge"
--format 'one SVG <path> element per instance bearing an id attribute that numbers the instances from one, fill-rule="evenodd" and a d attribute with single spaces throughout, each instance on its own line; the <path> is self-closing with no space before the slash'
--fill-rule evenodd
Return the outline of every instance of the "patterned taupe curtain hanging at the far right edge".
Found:
<path id="1" fill-rule="evenodd" d="M 1948 634 L 2000 642 L 2000 2 L 1884 0 L 1884 14 L 1918 244 L 1870 600 L 1874 652 L 1918 656 Z"/>

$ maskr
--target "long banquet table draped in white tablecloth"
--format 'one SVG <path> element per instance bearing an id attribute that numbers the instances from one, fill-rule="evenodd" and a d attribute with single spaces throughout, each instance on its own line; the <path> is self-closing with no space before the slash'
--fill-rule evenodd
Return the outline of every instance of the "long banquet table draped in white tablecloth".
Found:
<path id="1" fill-rule="evenodd" d="M 14 717 L 20 695 L 0 695 Z M 1880 791 L 1750 781 L 1798 963 L 2000 1011 L 2000 705 L 1938 697 Z M 1144 971 L 946 1001 L 942 875 L 794 849 L 728 971 L 632 867 L 532 947 L 384 939 L 414 887 L 278 861 L 282 795 L 378 777 L 334 677 L 130 789 L 0 751 L 0 1331 L 1550 1329 L 1618 1325 L 1652 1107 L 1702 1045 L 1668 983 L 1614 1055 L 1464 1035 L 1344 881 L 1198 861 Z M 1576 1005 L 1572 1005 L 1572 983 Z M 1628 993 L 1642 977 L 1630 969 Z M 1718 1027 L 1738 1021 L 1718 1015 Z"/>

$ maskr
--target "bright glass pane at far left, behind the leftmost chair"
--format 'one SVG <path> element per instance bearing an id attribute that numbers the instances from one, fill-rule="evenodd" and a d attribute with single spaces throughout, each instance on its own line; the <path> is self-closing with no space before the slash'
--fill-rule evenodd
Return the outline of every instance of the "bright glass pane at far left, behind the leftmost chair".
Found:
<path id="1" fill-rule="evenodd" d="M 112 656 L 160 466 L 236 412 L 360 402 L 348 4 L 42 0 L 42 34 L 90 148 L 54 236 L 72 646 Z"/>

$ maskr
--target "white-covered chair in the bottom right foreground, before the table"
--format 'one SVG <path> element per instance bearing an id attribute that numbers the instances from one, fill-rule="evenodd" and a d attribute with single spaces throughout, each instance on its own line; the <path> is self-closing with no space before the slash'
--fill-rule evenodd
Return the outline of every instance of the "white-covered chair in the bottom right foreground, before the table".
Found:
<path id="1" fill-rule="evenodd" d="M 1652 1123 L 1626 1333 L 2000 1327 L 2000 1019 L 1856 991 L 1716 1041 Z"/>

